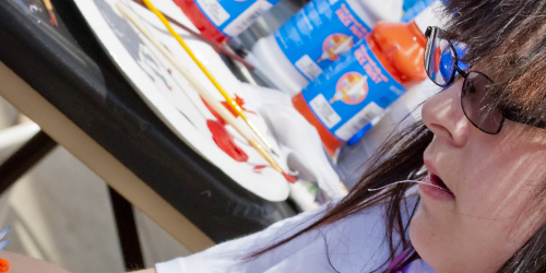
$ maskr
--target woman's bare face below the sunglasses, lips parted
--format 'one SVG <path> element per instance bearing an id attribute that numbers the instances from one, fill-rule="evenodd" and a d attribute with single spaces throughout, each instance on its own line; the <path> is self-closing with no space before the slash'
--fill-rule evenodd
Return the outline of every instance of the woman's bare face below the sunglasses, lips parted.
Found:
<path id="1" fill-rule="evenodd" d="M 410 237 L 438 272 L 496 272 L 538 227 L 544 202 L 543 129 L 506 120 L 499 134 L 475 128 L 461 108 L 462 80 L 429 98 L 423 119 L 435 134 L 425 151 L 432 183 L 420 185 Z"/>

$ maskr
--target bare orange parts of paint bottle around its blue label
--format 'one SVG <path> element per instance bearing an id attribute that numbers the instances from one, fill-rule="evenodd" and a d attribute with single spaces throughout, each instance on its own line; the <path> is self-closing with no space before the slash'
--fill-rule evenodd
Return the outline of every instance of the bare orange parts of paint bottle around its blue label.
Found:
<path id="1" fill-rule="evenodd" d="M 423 64 L 426 37 L 414 21 L 407 24 L 379 22 L 366 40 L 388 73 L 404 87 L 408 88 L 427 78 Z M 292 98 L 292 103 L 317 128 L 325 150 L 333 155 L 344 141 L 322 124 L 301 92 Z"/>

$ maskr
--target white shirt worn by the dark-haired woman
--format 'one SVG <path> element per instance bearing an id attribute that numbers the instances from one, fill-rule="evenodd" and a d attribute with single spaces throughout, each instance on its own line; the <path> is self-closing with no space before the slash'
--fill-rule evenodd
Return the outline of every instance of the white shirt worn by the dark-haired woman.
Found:
<path id="1" fill-rule="evenodd" d="M 407 198 L 407 201 L 413 207 L 416 198 Z M 157 263 L 157 273 L 345 273 L 387 269 L 388 263 L 384 262 L 389 257 L 389 246 L 384 230 L 385 212 L 379 205 L 308 232 L 253 260 L 242 260 L 307 227 L 324 214 L 327 206 L 286 218 L 260 233 L 223 242 L 203 252 Z M 399 240 L 400 237 L 394 235 L 394 241 Z"/>

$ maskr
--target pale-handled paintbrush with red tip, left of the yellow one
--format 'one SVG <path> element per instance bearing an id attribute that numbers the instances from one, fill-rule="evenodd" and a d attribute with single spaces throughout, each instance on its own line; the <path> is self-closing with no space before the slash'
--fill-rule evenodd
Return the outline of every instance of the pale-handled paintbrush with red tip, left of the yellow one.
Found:
<path id="1" fill-rule="evenodd" d="M 232 112 L 226 108 L 224 107 L 218 100 L 216 100 L 216 98 L 214 98 L 212 96 L 212 94 L 210 94 L 203 85 L 201 85 L 201 83 L 195 79 L 193 78 L 193 75 L 190 74 L 190 72 L 180 64 L 180 62 L 178 62 L 176 60 L 176 58 L 173 56 L 173 54 L 170 54 L 170 51 L 165 48 L 165 46 L 163 44 L 161 44 L 159 40 L 157 40 L 157 38 L 155 38 L 152 33 L 150 33 L 145 27 L 144 25 L 140 22 L 140 20 L 134 15 L 132 14 L 129 9 L 122 4 L 121 2 L 117 2 L 116 3 L 116 7 L 118 8 L 118 10 L 121 12 L 121 14 L 123 14 L 123 16 L 126 16 L 127 19 L 129 19 L 129 21 L 131 21 L 133 23 L 134 26 L 136 26 L 136 28 L 139 28 L 139 31 L 152 43 L 152 45 L 154 45 L 155 48 L 157 48 L 157 50 L 159 50 L 159 52 L 162 52 L 162 55 L 173 64 L 173 67 L 175 67 L 178 72 L 180 72 L 180 74 L 182 74 L 186 80 L 188 80 L 188 82 L 193 86 L 193 88 L 199 93 L 199 95 L 228 123 L 230 124 L 235 130 L 237 130 L 237 132 L 239 132 L 239 134 L 245 138 L 245 140 L 248 141 L 248 143 L 256 150 L 258 151 L 258 153 L 263 156 L 263 158 L 265 158 L 265 161 L 268 161 L 269 164 L 271 164 L 271 166 L 277 170 L 278 173 L 281 173 L 285 178 L 286 180 L 288 180 L 289 182 L 295 182 L 296 181 L 296 178 L 294 178 L 293 176 L 284 173 L 284 170 L 281 168 L 281 166 L 278 166 L 278 164 L 275 162 L 275 159 L 268 153 L 268 151 L 265 151 L 265 149 L 263 149 L 263 146 L 260 145 L 260 143 L 254 140 L 252 138 L 252 135 L 250 135 L 246 130 L 245 128 L 242 128 L 242 126 L 237 121 L 237 119 L 232 115 Z"/>

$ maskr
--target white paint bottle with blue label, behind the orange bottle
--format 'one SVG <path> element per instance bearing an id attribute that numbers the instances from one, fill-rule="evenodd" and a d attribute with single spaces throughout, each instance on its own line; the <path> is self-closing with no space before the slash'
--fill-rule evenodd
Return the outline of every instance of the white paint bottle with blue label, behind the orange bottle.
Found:
<path id="1" fill-rule="evenodd" d="M 295 95 L 363 39 L 377 22 L 399 22 L 402 3 L 312 0 L 278 31 L 259 39 L 247 60 L 280 90 Z"/>

